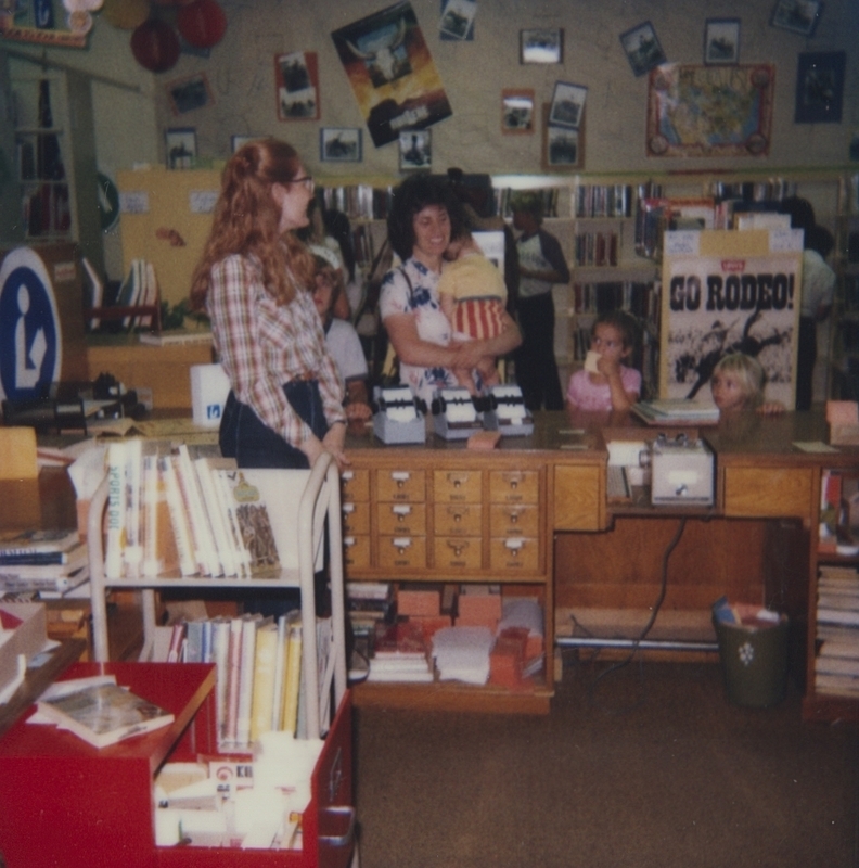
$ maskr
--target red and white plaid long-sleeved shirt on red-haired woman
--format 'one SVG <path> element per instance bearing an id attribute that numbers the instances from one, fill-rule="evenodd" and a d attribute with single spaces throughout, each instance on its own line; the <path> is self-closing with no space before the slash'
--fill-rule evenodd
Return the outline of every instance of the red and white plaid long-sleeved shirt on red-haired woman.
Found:
<path id="1" fill-rule="evenodd" d="M 318 380 L 329 425 L 345 422 L 339 374 L 309 292 L 298 289 L 290 304 L 278 305 L 259 265 L 233 255 L 213 267 L 206 307 L 235 397 L 270 429 L 293 446 L 310 436 L 283 393 L 293 380 Z"/>

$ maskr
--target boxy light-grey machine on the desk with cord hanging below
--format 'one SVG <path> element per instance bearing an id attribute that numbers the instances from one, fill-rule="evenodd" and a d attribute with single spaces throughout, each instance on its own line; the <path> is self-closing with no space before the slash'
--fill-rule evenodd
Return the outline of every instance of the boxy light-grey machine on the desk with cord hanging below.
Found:
<path id="1" fill-rule="evenodd" d="M 654 505 L 713 506 L 713 451 L 704 441 L 661 434 L 651 451 Z"/>

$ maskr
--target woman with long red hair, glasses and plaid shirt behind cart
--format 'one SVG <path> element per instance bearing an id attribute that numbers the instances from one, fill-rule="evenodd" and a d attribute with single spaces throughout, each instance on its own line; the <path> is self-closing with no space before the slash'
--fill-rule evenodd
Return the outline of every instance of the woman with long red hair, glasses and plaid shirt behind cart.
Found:
<path id="1" fill-rule="evenodd" d="M 227 163 L 191 304 L 211 320 L 230 379 L 221 452 L 240 467 L 346 463 L 336 365 L 311 295 L 315 263 L 292 230 L 307 225 L 313 179 L 295 150 L 253 141 Z"/>

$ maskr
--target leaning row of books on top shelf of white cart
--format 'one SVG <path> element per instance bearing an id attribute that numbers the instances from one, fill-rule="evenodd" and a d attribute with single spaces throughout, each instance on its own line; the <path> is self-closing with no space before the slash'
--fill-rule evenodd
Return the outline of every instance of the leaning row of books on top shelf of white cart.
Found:
<path id="1" fill-rule="evenodd" d="M 105 577 L 279 577 L 259 487 L 234 461 L 191 448 L 141 438 L 107 446 Z"/>

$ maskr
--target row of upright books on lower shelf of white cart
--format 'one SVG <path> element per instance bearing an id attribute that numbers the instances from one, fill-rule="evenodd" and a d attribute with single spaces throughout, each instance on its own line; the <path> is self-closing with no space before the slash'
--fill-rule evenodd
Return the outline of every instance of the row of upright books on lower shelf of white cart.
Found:
<path id="1" fill-rule="evenodd" d="M 218 743 L 248 750 L 261 735 L 286 731 L 307 737 L 308 701 L 300 610 L 277 621 L 259 614 L 182 621 L 165 628 L 168 663 L 214 663 Z M 328 731 L 334 673 L 331 618 L 317 618 L 320 725 Z"/>

